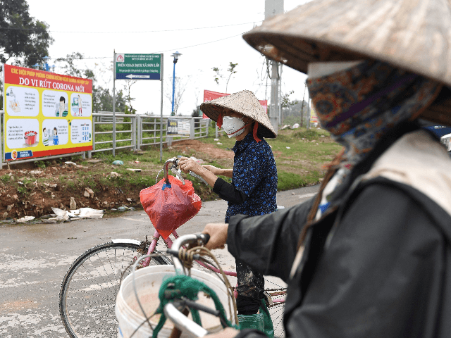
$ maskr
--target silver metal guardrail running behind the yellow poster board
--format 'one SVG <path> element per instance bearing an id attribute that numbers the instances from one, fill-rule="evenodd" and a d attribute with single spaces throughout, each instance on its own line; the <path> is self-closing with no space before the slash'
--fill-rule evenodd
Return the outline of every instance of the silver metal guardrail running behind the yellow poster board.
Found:
<path id="1" fill-rule="evenodd" d="M 160 117 L 152 115 L 116 113 L 116 144 L 115 149 L 140 150 L 143 146 L 160 143 Z M 190 134 L 186 136 L 172 136 L 166 134 L 168 118 L 175 120 L 189 120 Z M 192 118 L 190 116 L 163 116 L 162 142 L 171 144 L 183 139 L 198 139 L 209 134 L 209 119 Z M 0 166 L 6 165 L 4 154 L 4 111 L 0 111 Z M 105 146 L 106 145 L 106 146 Z M 87 151 L 87 157 L 99 151 L 113 151 L 113 113 L 92 113 L 92 151 Z M 46 161 L 51 158 L 81 155 L 85 158 L 86 152 L 46 156 L 42 158 L 30 158 L 20 161 L 9 161 L 9 164 Z"/>

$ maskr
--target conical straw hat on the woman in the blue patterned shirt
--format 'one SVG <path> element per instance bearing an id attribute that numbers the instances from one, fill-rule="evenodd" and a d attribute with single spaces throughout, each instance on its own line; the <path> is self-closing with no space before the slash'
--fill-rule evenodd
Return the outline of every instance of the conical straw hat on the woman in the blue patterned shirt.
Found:
<path id="1" fill-rule="evenodd" d="M 258 133 L 261 137 L 274 138 L 277 136 L 259 99 L 249 90 L 206 101 L 200 105 L 200 110 L 216 122 L 222 111 L 219 107 L 229 108 L 257 121 L 259 123 Z"/>

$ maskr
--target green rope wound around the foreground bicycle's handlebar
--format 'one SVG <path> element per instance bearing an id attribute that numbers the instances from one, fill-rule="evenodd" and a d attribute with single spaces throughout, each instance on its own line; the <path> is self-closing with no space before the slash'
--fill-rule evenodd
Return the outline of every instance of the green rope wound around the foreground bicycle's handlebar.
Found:
<path id="1" fill-rule="evenodd" d="M 196 301 L 198 299 L 197 294 L 199 294 L 199 292 L 201 291 L 209 295 L 211 299 L 213 299 L 216 310 L 218 310 L 221 313 L 221 316 L 226 320 L 227 325 L 230 327 L 237 328 L 236 325 L 233 325 L 227 319 L 226 311 L 224 311 L 223 304 L 221 303 L 218 296 L 212 289 L 207 287 L 206 284 L 204 284 L 203 282 L 200 282 L 199 280 L 194 280 L 194 278 L 190 276 L 175 275 L 171 277 L 166 277 L 161 283 L 158 295 L 160 299 L 160 305 L 155 311 L 155 313 L 161 313 L 161 317 L 159 323 L 156 325 L 154 329 L 152 338 L 156 338 L 157 334 L 160 332 L 164 323 L 166 323 L 166 315 L 164 315 L 163 313 L 163 308 L 167 303 L 173 301 L 174 299 L 180 299 L 181 296 L 184 296 L 192 301 Z M 194 322 L 202 326 L 199 311 L 197 311 L 197 309 L 195 308 L 190 308 L 190 311 Z"/>

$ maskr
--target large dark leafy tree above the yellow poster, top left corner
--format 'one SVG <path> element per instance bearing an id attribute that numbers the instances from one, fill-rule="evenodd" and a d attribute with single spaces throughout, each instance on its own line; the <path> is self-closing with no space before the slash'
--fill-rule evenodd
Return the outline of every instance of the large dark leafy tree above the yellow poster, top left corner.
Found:
<path id="1" fill-rule="evenodd" d="M 0 63 L 13 61 L 23 67 L 42 65 L 54 39 L 49 25 L 28 13 L 25 0 L 0 0 Z M 0 108 L 3 108 L 3 84 L 0 84 Z"/>

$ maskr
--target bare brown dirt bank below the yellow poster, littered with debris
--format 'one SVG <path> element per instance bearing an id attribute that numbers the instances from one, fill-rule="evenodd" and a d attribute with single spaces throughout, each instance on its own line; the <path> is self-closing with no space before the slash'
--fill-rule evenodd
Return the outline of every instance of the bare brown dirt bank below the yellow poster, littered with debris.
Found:
<path id="1" fill-rule="evenodd" d="M 0 215 L 3 219 L 20 218 L 24 215 L 39 217 L 52 213 L 51 207 L 68 210 L 70 197 L 73 197 L 77 208 L 104 209 L 119 204 L 129 205 L 137 201 L 135 194 L 130 194 L 130 198 L 121 194 L 121 189 L 101 184 L 94 175 L 90 175 L 87 166 L 81 166 L 82 168 L 66 164 L 55 164 L 49 168 L 20 166 L 22 167 L 20 169 L 0 170 Z M 81 180 L 78 179 L 80 172 L 84 174 L 80 177 Z M 66 182 L 61 182 L 61 176 L 64 176 Z M 82 184 L 83 182 L 86 184 Z M 88 183 L 90 184 L 87 185 Z M 96 189 L 93 196 L 85 196 L 85 185 L 87 187 L 96 185 L 100 189 Z"/>

